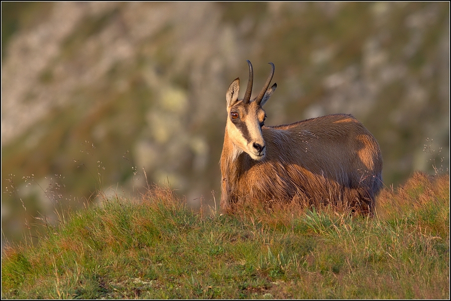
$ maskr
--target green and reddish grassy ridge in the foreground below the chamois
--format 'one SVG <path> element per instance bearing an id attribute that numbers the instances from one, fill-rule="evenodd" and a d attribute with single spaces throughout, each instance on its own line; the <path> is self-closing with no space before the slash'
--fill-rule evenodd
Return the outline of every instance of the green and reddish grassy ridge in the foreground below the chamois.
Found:
<path id="1" fill-rule="evenodd" d="M 295 204 L 193 212 L 169 189 L 104 198 L 2 254 L 2 299 L 449 299 L 449 175 L 374 217 Z"/>

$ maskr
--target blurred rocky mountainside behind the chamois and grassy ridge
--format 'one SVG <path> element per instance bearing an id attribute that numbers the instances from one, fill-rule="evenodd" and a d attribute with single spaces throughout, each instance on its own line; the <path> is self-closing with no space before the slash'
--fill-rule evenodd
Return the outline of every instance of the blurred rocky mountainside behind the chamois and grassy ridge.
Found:
<path id="1" fill-rule="evenodd" d="M 214 206 L 246 59 L 267 125 L 353 114 L 387 187 L 448 172 L 449 2 L 1 2 L 2 242 L 146 178 Z"/>

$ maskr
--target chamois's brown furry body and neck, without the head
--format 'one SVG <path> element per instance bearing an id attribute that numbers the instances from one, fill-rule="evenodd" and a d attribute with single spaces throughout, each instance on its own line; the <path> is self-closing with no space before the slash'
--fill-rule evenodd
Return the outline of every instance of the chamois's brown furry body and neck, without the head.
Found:
<path id="1" fill-rule="evenodd" d="M 335 114 L 261 128 L 266 154 L 235 157 L 226 130 L 221 155 L 221 207 L 243 198 L 332 204 L 372 212 L 382 187 L 382 157 L 369 131 L 351 115 Z"/>

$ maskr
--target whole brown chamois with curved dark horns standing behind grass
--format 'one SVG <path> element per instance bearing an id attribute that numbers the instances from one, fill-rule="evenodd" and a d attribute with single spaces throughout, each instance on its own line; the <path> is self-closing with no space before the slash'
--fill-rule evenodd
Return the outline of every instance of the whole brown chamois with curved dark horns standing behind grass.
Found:
<path id="1" fill-rule="evenodd" d="M 276 90 L 270 75 L 250 100 L 253 70 L 238 100 L 239 78 L 226 93 L 227 122 L 221 154 L 221 208 L 250 198 L 304 200 L 372 214 L 382 187 L 382 157 L 371 133 L 352 115 L 333 114 L 288 125 L 265 126 L 262 106 Z"/>

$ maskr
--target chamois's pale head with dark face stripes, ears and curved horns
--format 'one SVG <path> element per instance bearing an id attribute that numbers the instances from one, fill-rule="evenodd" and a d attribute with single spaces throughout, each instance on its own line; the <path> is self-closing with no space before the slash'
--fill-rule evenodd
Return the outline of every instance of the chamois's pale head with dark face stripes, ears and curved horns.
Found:
<path id="1" fill-rule="evenodd" d="M 266 80 L 260 94 L 252 101 L 250 94 L 252 93 L 253 70 L 252 64 L 247 60 L 249 65 L 249 79 L 247 81 L 247 89 L 242 100 L 238 100 L 239 78 L 235 79 L 228 87 L 227 100 L 227 123 L 226 131 L 229 139 L 234 146 L 234 153 L 238 156 L 241 152 L 246 152 L 254 160 L 261 160 L 266 152 L 265 141 L 261 134 L 266 114 L 262 106 L 271 97 L 276 90 L 277 85 L 274 84 L 268 89 L 274 75 L 274 64 L 271 64 L 271 72 Z"/>

